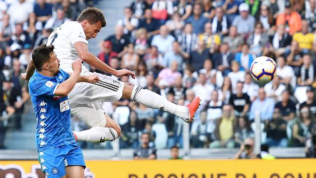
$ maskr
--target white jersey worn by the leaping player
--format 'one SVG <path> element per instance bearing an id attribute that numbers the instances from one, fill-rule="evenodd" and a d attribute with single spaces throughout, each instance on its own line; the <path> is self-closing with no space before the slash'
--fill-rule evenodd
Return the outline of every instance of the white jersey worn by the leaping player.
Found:
<path id="1" fill-rule="evenodd" d="M 79 22 L 69 21 L 56 28 L 48 37 L 46 45 L 54 45 L 54 52 L 60 60 L 60 68 L 66 72 L 73 72 L 72 62 L 79 58 L 74 47 L 76 42 L 88 45 L 85 34 Z M 82 65 L 81 73 L 89 71 Z"/>

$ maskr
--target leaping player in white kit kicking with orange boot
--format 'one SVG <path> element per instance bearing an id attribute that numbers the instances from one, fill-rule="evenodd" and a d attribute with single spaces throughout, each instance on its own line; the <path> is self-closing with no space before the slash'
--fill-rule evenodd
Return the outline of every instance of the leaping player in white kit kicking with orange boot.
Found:
<path id="1" fill-rule="evenodd" d="M 72 62 L 81 58 L 83 62 L 117 77 L 134 73 L 127 69 L 115 70 L 103 63 L 88 50 L 88 41 L 95 38 L 106 21 L 102 11 L 95 7 L 88 7 L 81 12 L 76 21 L 65 22 L 56 28 L 47 39 L 46 45 L 54 45 L 54 52 L 60 60 L 60 68 L 72 73 Z M 29 80 L 35 71 L 33 61 L 29 62 L 27 72 L 21 77 Z M 82 65 L 80 75 L 92 73 Z M 121 97 L 139 102 L 147 107 L 167 111 L 181 117 L 185 122 L 191 123 L 199 107 L 200 99 L 197 96 L 190 104 L 176 105 L 164 97 L 148 89 L 142 89 L 130 83 L 120 82 L 112 77 L 95 73 L 100 82 L 94 84 L 77 83 L 69 93 L 71 114 L 87 123 L 91 129 L 74 132 L 79 141 L 104 142 L 113 141 L 120 134 L 120 127 L 102 109 L 102 102 L 117 101 Z"/>

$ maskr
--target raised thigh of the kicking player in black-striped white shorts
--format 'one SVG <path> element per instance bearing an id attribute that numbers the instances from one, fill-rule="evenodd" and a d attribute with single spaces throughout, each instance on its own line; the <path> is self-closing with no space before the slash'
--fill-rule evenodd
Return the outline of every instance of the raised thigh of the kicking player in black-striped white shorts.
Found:
<path id="1" fill-rule="evenodd" d="M 77 83 L 68 95 L 71 108 L 77 104 L 118 101 L 122 97 L 123 82 L 99 73 L 85 72 L 80 75 L 92 74 L 96 74 L 100 78 L 100 82 L 95 84 Z"/>

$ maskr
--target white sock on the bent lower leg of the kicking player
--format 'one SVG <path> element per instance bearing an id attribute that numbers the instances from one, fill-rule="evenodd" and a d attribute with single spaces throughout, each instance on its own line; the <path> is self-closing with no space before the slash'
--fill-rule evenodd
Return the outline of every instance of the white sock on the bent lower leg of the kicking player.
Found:
<path id="1" fill-rule="evenodd" d="M 77 136 L 77 141 L 87 141 L 93 143 L 102 143 L 105 141 L 113 141 L 118 138 L 115 129 L 109 127 L 92 127 L 89 130 L 73 133 Z"/>

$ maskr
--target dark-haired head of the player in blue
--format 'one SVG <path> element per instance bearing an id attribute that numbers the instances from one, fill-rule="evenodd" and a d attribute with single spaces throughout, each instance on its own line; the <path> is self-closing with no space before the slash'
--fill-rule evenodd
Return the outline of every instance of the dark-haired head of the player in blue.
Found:
<path id="1" fill-rule="evenodd" d="M 45 44 L 33 50 L 33 63 L 37 71 L 49 72 L 50 74 L 57 74 L 59 72 L 59 59 L 54 52 L 54 45 L 46 46 Z"/>

